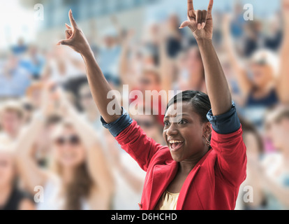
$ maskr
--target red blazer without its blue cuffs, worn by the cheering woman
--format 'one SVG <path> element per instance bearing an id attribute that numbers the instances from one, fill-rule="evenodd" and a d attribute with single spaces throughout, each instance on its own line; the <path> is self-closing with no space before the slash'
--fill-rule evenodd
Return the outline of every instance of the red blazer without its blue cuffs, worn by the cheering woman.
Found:
<path id="1" fill-rule="evenodd" d="M 116 138 L 121 148 L 147 172 L 141 210 L 154 210 L 175 178 L 178 163 L 168 146 L 161 146 L 133 123 Z M 177 210 L 233 210 L 239 186 L 246 179 L 246 146 L 242 127 L 232 134 L 212 132 L 210 150 L 188 175 L 181 188 Z"/>

